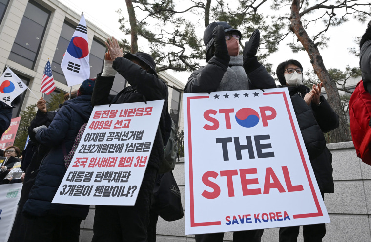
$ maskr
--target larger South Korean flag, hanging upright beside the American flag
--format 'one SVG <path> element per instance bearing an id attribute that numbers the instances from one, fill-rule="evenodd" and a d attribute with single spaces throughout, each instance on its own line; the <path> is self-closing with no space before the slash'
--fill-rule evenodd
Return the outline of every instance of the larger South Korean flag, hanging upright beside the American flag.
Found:
<path id="1" fill-rule="evenodd" d="M 82 83 L 90 76 L 87 27 L 83 14 L 63 56 L 61 68 L 69 87 Z"/>

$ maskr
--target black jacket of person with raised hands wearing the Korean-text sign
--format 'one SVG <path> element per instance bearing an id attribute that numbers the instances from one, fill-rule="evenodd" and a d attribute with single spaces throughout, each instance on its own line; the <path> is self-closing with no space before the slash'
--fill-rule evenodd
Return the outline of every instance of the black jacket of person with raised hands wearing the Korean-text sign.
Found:
<path id="1" fill-rule="evenodd" d="M 164 140 L 162 137 L 165 137 L 165 114 L 167 112 L 167 99 L 169 96 L 166 83 L 160 80 L 156 75 L 147 73 L 139 65 L 123 57 L 116 58 L 112 67 L 121 74 L 131 86 L 126 87 L 116 96 L 110 95 L 109 92 L 112 88 L 114 77 L 103 77 L 101 74 L 98 74 L 91 99 L 93 106 L 165 100 L 161 112 L 159 129 L 157 130 L 148 161 L 148 166 L 152 166 L 158 170 L 164 157 Z"/>

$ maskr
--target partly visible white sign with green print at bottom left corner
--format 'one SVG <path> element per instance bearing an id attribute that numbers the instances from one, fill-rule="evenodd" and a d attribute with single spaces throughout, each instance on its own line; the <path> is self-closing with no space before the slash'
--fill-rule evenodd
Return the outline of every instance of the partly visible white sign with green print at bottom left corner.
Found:
<path id="1" fill-rule="evenodd" d="M 23 183 L 0 185 L 0 242 L 7 242 L 16 217 Z"/>

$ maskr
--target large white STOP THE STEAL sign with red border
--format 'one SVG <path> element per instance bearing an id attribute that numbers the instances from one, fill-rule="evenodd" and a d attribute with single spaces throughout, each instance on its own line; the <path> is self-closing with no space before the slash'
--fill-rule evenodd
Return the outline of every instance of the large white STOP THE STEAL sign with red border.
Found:
<path id="1" fill-rule="evenodd" d="M 287 89 L 185 93 L 186 234 L 330 219 Z"/>

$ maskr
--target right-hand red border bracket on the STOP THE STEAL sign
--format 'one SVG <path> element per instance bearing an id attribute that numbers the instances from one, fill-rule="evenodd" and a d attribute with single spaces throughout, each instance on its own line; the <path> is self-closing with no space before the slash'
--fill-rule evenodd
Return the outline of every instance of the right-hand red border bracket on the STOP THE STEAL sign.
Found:
<path id="1" fill-rule="evenodd" d="M 317 198 L 316 192 L 314 190 L 312 179 L 310 178 L 310 175 L 309 175 L 309 170 L 308 170 L 308 167 L 307 167 L 307 163 L 305 162 L 304 153 L 303 153 L 302 147 L 301 147 L 300 142 L 299 142 L 299 137 L 298 137 L 298 134 L 297 134 L 296 129 L 295 129 L 294 120 L 292 119 L 292 115 L 291 115 L 290 108 L 289 108 L 289 103 L 287 101 L 285 92 L 263 93 L 263 95 L 274 95 L 274 94 L 282 94 L 282 96 L 284 97 L 286 109 L 287 109 L 287 112 L 289 114 L 291 128 L 292 128 L 292 131 L 294 132 L 296 145 L 298 146 L 300 157 L 302 159 L 303 167 L 304 167 L 304 170 L 305 170 L 305 174 L 307 175 L 310 191 L 312 192 L 313 200 L 314 200 L 314 203 L 317 207 L 317 212 L 316 213 L 295 214 L 295 215 L 292 215 L 292 217 L 294 219 L 301 219 L 301 218 L 311 218 L 311 217 L 323 216 L 321 206 L 319 205 L 318 198 Z"/>

